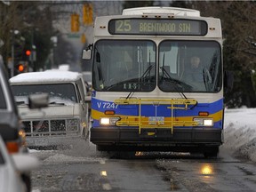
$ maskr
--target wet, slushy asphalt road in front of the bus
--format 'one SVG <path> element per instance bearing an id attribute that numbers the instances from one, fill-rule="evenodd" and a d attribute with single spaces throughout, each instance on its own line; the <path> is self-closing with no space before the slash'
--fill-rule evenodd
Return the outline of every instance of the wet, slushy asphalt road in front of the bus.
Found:
<path id="1" fill-rule="evenodd" d="M 32 172 L 33 192 L 256 191 L 256 166 L 221 148 L 217 159 L 137 153 L 129 159 L 77 142 L 68 150 L 32 151 L 42 165 Z M 130 154 L 131 155 L 131 154 Z"/>

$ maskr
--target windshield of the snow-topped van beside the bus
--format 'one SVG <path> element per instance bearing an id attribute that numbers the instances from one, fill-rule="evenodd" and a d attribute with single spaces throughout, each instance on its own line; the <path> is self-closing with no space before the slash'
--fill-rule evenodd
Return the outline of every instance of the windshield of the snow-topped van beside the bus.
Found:
<path id="1" fill-rule="evenodd" d="M 28 95 L 49 94 L 50 103 L 77 102 L 74 84 L 22 84 L 12 85 L 12 92 L 17 102 L 28 103 Z"/>

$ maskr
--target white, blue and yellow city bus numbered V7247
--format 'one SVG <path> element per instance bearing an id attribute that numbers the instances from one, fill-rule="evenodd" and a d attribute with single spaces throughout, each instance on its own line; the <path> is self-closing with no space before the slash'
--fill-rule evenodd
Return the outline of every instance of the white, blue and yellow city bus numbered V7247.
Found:
<path id="1" fill-rule="evenodd" d="M 82 56 L 92 60 L 90 141 L 99 151 L 218 156 L 228 79 L 222 42 L 220 19 L 197 10 L 140 7 L 97 17 Z"/>

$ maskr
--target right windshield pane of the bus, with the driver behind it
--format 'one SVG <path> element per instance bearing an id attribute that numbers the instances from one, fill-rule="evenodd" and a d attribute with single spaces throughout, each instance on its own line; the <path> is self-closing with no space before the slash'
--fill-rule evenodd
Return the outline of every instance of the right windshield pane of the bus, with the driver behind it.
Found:
<path id="1" fill-rule="evenodd" d="M 158 86 L 163 92 L 220 92 L 220 63 L 217 42 L 163 41 Z"/>

